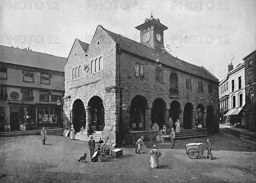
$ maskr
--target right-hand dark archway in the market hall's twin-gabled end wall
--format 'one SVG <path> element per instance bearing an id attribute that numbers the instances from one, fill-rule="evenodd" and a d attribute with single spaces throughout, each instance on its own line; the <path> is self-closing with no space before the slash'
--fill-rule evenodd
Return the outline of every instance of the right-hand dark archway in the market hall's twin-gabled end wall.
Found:
<path id="1" fill-rule="evenodd" d="M 90 107 L 93 131 L 103 131 L 105 126 L 105 109 L 102 99 L 98 96 L 92 97 L 88 102 L 88 107 Z"/>

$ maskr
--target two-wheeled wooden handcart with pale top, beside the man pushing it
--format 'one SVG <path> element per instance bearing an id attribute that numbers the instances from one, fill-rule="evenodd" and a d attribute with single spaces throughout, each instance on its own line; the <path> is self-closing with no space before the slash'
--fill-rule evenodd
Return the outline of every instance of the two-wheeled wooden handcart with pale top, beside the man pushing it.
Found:
<path id="1" fill-rule="evenodd" d="M 204 154 L 203 146 L 204 143 L 188 143 L 185 145 L 186 154 L 188 154 L 191 159 L 198 158 L 198 156 L 202 156 Z"/>

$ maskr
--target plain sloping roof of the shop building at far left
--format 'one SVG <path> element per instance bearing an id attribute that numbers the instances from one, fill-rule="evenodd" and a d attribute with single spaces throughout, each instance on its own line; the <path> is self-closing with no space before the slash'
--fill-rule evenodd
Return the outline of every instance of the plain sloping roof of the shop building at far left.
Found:
<path id="1" fill-rule="evenodd" d="M 0 45 L 0 62 L 64 72 L 67 58 Z"/>

